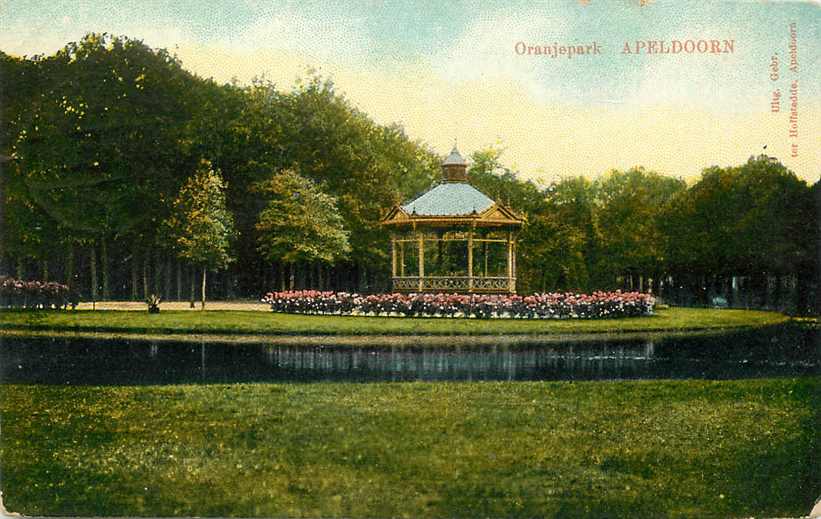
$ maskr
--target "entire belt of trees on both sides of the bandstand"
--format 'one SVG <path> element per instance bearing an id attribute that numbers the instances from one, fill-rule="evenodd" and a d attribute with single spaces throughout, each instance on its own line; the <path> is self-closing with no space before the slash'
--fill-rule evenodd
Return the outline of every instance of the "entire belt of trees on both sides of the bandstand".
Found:
<path id="1" fill-rule="evenodd" d="M 0 96 L 0 274 L 65 282 L 84 299 L 386 290 L 379 219 L 440 177 L 427 144 L 375 123 L 328 79 L 218 84 L 123 36 L 0 52 Z M 689 186 L 640 167 L 537 185 L 498 148 L 471 159 L 471 181 L 527 217 L 520 292 L 628 288 L 708 304 L 745 284 L 817 307 L 818 183 L 772 158 L 708 168 Z"/>

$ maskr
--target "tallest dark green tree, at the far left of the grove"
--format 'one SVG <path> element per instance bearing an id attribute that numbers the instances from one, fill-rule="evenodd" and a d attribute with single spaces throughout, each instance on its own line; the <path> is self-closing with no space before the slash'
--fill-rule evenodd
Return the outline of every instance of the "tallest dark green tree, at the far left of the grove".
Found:
<path id="1" fill-rule="evenodd" d="M 193 76 L 164 50 L 88 34 L 37 58 L 44 78 L 22 114 L 13 153 L 27 200 L 102 260 L 114 240 L 155 245 L 165 200 L 185 170 L 182 130 Z M 92 292 L 96 283 L 92 283 Z"/>

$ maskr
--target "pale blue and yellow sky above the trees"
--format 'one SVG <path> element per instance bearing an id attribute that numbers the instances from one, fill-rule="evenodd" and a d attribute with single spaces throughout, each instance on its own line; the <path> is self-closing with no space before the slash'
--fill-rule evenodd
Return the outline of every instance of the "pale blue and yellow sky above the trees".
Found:
<path id="1" fill-rule="evenodd" d="M 495 5 L 494 5 L 495 4 Z M 800 177 L 821 164 L 821 5 L 813 2 L 566 0 L 0 0 L 0 50 L 50 54 L 109 32 L 175 52 L 218 81 L 264 76 L 288 89 L 308 68 L 377 122 L 446 154 L 505 149 L 549 182 L 643 165 L 694 178 L 762 152 Z M 798 72 L 790 66 L 795 23 Z M 726 54 L 627 55 L 627 43 L 733 40 Z M 518 55 L 516 44 L 590 45 L 599 55 Z M 779 78 L 770 79 L 772 56 Z M 798 81 L 798 138 L 788 135 Z M 781 112 L 770 112 L 780 89 Z M 797 144 L 797 157 L 791 145 Z"/>

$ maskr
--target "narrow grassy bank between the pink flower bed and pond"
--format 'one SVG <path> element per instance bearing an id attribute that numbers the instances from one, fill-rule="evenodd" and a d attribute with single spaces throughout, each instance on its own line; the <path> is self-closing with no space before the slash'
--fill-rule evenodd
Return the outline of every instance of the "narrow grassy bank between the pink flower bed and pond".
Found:
<path id="1" fill-rule="evenodd" d="M 213 310 L 0 311 L 0 329 L 153 334 L 498 335 L 717 330 L 777 324 L 775 312 L 670 308 L 650 317 L 597 320 L 408 319 Z"/>

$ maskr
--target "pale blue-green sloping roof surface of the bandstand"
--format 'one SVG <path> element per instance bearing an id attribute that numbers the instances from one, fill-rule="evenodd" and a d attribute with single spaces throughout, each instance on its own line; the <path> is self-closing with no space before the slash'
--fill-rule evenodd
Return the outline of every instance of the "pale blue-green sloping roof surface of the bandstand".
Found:
<path id="1" fill-rule="evenodd" d="M 481 213 L 494 204 L 487 195 L 465 182 L 439 184 L 418 198 L 406 203 L 402 209 L 419 216 L 459 216 Z"/>

